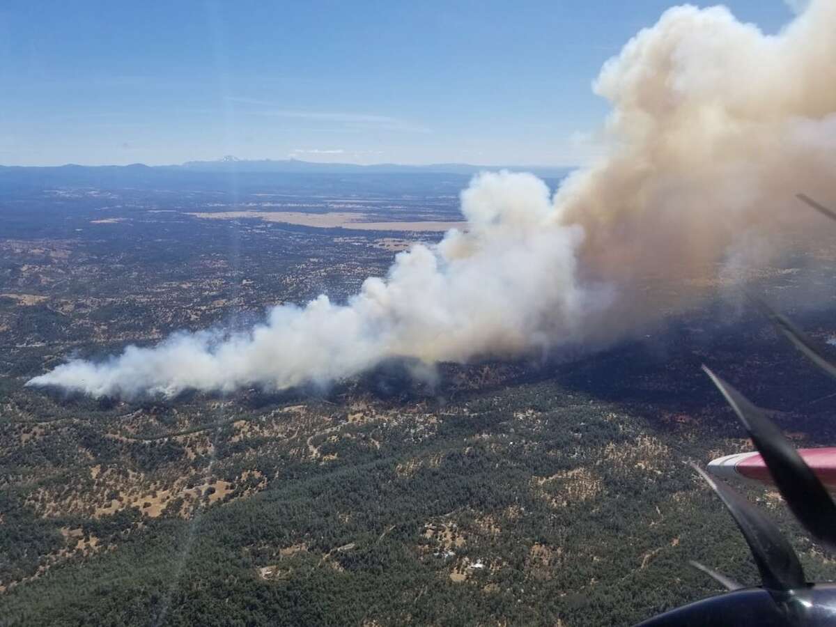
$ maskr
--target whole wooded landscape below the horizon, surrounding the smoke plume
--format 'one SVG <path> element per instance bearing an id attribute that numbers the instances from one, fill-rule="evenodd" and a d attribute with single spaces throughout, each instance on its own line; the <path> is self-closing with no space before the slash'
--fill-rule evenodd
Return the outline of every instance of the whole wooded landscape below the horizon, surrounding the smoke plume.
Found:
<path id="1" fill-rule="evenodd" d="M 412 223 L 461 220 L 466 181 L 3 183 L 0 624 L 630 624 L 716 591 L 689 559 L 757 581 L 686 463 L 750 448 L 699 367 L 798 446 L 836 442 L 836 388 L 726 286 L 619 344 L 433 376 L 395 361 L 327 388 L 134 400 L 24 386 L 70 356 L 344 301 L 441 237 Z M 836 294 L 834 268 L 836 244 L 749 289 L 827 350 L 836 307 L 802 305 Z M 832 579 L 777 493 L 748 490 Z"/>

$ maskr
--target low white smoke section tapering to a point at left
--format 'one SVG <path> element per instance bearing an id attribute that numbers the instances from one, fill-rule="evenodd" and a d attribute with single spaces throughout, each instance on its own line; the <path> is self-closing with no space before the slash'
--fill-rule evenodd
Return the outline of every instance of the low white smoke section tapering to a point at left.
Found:
<path id="1" fill-rule="evenodd" d="M 548 187 L 524 174 L 483 175 L 462 194 L 470 231 L 401 252 L 347 305 L 325 296 L 273 308 L 266 324 L 223 338 L 176 334 L 94 364 L 34 379 L 92 395 L 174 394 L 242 385 L 285 388 L 352 375 L 393 356 L 427 362 L 516 353 L 574 332 L 591 306 L 575 281 L 579 227 L 550 224 Z"/>

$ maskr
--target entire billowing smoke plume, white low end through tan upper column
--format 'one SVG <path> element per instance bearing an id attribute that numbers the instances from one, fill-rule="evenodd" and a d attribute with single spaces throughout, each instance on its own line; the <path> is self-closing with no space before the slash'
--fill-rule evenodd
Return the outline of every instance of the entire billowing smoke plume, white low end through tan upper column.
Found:
<path id="1" fill-rule="evenodd" d="M 281 389 L 390 357 L 465 361 L 618 336 L 683 306 L 696 279 L 781 252 L 805 211 L 795 191 L 833 198 L 833 33 L 831 0 L 775 36 L 725 8 L 672 8 L 604 65 L 607 156 L 554 197 L 534 176 L 477 176 L 461 195 L 464 232 L 401 252 L 346 305 L 320 296 L 247 333 L 176 334 L 29 384 Z"/>

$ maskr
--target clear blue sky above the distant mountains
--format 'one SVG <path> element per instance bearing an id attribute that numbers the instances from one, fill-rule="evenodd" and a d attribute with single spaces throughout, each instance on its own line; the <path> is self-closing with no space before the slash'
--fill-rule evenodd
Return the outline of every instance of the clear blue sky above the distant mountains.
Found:
<path id="1" fill-rule="evenodd" d="M 671 4 L 6 0 L 0 164 L 575 165 L 601 64 Z M 792 17 L 726 6 L 767 32 Z"/>

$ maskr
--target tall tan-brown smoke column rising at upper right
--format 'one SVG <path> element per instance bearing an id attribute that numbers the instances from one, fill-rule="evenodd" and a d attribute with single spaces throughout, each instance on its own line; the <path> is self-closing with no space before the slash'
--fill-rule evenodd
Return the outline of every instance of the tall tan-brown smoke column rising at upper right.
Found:
<path id="1" fill-rule="evenodd" d="M 718 263 L 762 262 L 788 232 L 823 226 L 793 196 L 836 192 L 834 35 L 831 0 L 775 36 L 723 7 L 676 7 L 604 65 L 594 89 L 613 105 L 609 155 L 555 203 L 584 227 L 584 278 L 619 290 L 610 327 L 649 316 L 647 298 L 681 305 Z M 648 294 L 649 279 L 667 291 Z"/>

